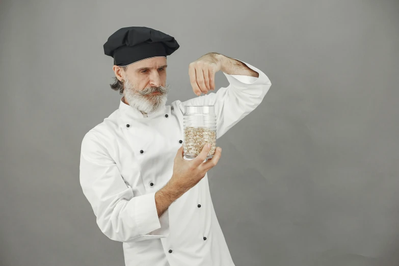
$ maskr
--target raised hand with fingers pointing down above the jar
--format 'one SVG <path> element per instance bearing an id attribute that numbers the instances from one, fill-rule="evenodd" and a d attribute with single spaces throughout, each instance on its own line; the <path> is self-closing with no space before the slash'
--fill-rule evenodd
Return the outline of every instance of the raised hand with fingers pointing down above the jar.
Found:
<path id="1" fill-rule="evenodd" d="M 196 95 L 206 94 L 210 90 L 215 90 L 215 73 L 222 66 L 222 55 L 210 52 L 198 60 L 190 63 L 189 75 L 190 83 Z"/>

